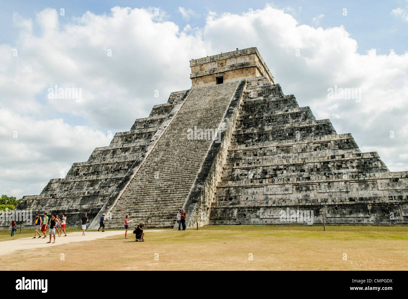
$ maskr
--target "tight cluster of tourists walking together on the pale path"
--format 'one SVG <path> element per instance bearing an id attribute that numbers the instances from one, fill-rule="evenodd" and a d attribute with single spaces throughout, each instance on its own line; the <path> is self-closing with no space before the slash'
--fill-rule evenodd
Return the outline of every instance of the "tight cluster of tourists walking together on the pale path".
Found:
<path id="1" fill-rule="evenodd" d="M 58 234 L 58 237 L 62 236 L 64 232 L 64 237 L 67 236 L 65 231 L 65 224 L 67 223 L 67 214 L 62 213 L 62 217 L 59 215 L 51 214 L 51 218 L 47 216 L 47 212 L 44 212 L 43 218 L 40 215 L 35 214 L 34 218 L 34 237 L 35 239 L 38 234 L 38 238 L 41 238 L 41 233 L 44 235 L 42 239 L 47 238 L 47 228 L 49 227 L 48 234 L 50 240 L 47 243 L 51 243 L 51 238 L 54 237 L 53 242 L 55 243 L 55 235 Z M 41 233 L 38 231 L 40 230 Z"/>

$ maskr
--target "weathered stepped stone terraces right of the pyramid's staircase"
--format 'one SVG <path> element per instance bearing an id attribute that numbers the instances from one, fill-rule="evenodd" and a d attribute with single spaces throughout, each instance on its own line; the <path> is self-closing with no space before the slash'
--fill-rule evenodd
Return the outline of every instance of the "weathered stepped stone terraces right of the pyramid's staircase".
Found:
<path id="1" fill-rule="evenodd" d="M 288 224 L 279 217 L 287 208 L 313 210 L 314 223 L 407 223 L 407 177 L 279 84 L 251 78 L 209 224 Z"/>

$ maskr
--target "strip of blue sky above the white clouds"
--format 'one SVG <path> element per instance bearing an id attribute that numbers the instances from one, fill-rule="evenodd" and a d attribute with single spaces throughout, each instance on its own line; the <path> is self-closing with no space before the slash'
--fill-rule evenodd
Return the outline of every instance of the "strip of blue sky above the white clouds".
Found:
<path id="1" fill-rule="evenodd" d="M 248 1 L 41 1 L 40 3 L 23 1 L 1 1 L 0 11 L 0 42 L 13 42 L 16 29 L 11 28 L 13 12 L 18 12 L 25 18 L 35 18 L 35 12 L 47 7 L 65 9 L 62 19 L 69 21 L 71 17 L 79 17 L 85 11 L 95 14 L 109 13 L 114 6 L 131 8 L 158 7 L 164 9 L 169 15 L 168 20 L 175 22 L 180 27 L 186 24 L 202 27 L 205 24 L 205 16 L 208 11 L 217 13 L 247 12 L 248 9 L 262 9 L 266 2 L 253 0 Z M 406 22 L 401 18 L 392 16 L 391 11 L 397 7 L 406 6 L 406 1 L 272 1 L 268 2 L 273 7 L 285 9 L 291 13 L 299 24 L 307 24 L 315 27 L 338 27 L 343 25 L 351 34 L 350 36 L 359 42 L 359 53 L 365 53 L 369 49 L 377 49 L 377 53 L 386 54 L 390 49 L 398 54 L 408 49 L 408 30 Z M 181 17 L 179 7 L 192 9 L 197 13 L 193 21 L 186 21 Z M 343 9 L 347 9 L 347 16 L 343 16 Z M 324 15 L 316 25 L 313 18 Z M 200 15 L 200 16 L 198 16 Z"/>

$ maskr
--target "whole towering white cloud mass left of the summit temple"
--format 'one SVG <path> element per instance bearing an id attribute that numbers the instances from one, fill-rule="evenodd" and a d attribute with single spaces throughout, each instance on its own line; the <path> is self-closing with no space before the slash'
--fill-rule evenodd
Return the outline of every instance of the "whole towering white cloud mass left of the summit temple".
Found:
<path id="1" fill-rule="evenodd" d="M 0 193 L 38 194 L 60 171 L 107 146 L 107 131 L 128 131 L 154 104 L 191 85 L 188 61 L 203 41 L 160 21 L 165 15 L 114 7 L 62 27 L 54 9 L 34 21 L 15 14 L 20 34 L 15 44 L 0 44 Z M 80 88 L 82 100 L 49 99 L 55 85 Z"/>

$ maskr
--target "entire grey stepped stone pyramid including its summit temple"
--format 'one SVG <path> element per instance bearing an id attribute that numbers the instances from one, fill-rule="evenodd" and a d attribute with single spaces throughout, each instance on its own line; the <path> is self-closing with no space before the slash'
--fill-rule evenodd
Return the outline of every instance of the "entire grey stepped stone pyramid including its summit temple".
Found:
<path id="1" fill-rule="evenodd" d="M 390 172 L 351 134 L 299 107 L 257 48 L 190 66 L 189 89 L 171 93 L 16 209 L 64 212 L 67 226 L 87 212 L 91 229 L 102 213 L 107 228 L 122 228 L 127 214 L 147 228 L 173 228 L 180 208 L 187 228 L 408 223 L 408 172 Z"/>

